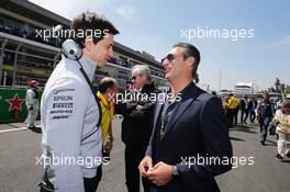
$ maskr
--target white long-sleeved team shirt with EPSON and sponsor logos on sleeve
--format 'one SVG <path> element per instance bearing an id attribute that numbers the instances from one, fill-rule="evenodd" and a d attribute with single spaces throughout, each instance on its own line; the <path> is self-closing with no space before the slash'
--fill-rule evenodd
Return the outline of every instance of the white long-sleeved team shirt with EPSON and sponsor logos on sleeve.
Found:
<path id="1" fill-rule="evenodd" d="M 96 63 L 85 55 L 80 63 L 92 80 Z M 83 192 L 83 178 L 94 177 L 102 161 L 99 108 L 79 68 L 63 58 L 42 95 L 42 158 L 57 192 Z"/>

